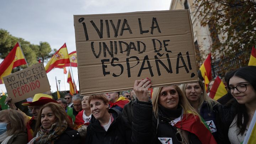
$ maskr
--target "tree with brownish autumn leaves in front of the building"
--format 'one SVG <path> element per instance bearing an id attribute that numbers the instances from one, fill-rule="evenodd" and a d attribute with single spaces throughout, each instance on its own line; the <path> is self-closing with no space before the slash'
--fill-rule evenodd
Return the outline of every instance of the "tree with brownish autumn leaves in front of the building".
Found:
<path id="1" fill-rule="evenodd" d="M 256 1 L 196 0 L 194 3 L 202 26 L 209 26 L 213 39 L 213 59 L 220 58 L 224 73 L 248 65 L 256 39 Z M 230 64 L 230 59 L 239 60 Z"/>

